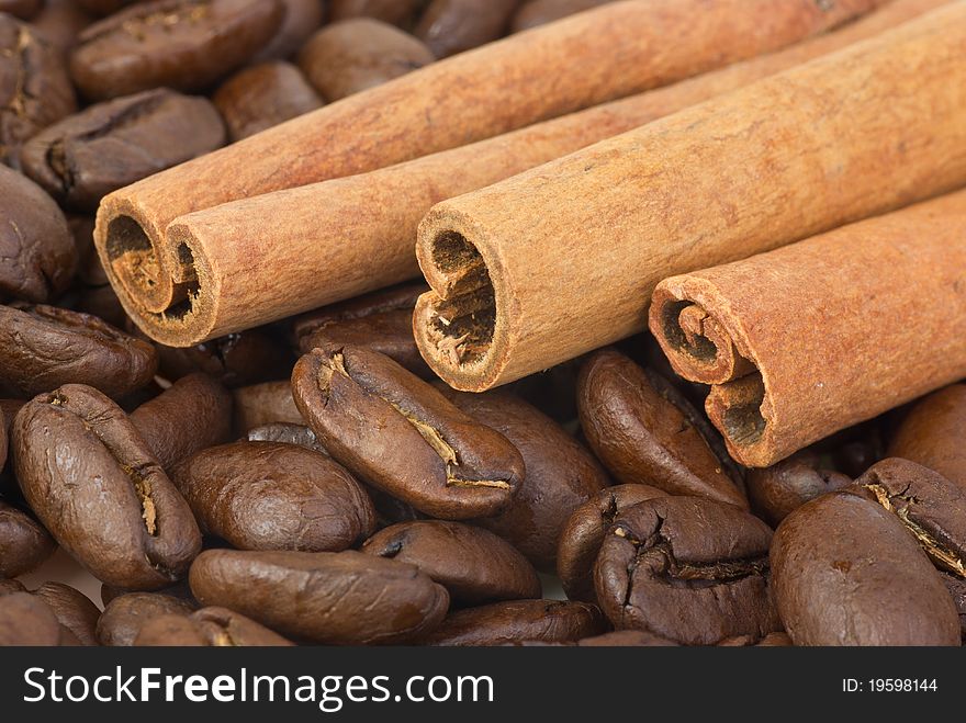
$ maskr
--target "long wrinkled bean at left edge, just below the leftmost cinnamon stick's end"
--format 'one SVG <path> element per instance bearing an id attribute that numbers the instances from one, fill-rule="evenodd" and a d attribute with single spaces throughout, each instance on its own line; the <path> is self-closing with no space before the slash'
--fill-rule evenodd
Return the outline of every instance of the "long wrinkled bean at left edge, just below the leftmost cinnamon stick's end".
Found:
<path id="1" fill-rule="evenodd" d="M 33 396 L 66 383 L 121 397 L 150 382 L 154 347 L 96 316 L 54 306 L 0 306 L 0 385 Z"/>

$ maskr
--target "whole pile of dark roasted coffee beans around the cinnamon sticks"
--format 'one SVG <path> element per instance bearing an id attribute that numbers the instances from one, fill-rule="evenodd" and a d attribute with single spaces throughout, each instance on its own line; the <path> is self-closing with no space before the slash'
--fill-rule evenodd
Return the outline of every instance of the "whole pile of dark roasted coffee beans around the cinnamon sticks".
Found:
<path id="1" fill-rule="evenodd" d="M 0 645 L 961 644 L 962 385 L 745 470 L 647 336 L 474 395 L 420 284 L 191 349 L 119 305 L 106 193 L 596 4 L 0 0 Z M 58 546 L 103 609 L 18 579 Z"/>

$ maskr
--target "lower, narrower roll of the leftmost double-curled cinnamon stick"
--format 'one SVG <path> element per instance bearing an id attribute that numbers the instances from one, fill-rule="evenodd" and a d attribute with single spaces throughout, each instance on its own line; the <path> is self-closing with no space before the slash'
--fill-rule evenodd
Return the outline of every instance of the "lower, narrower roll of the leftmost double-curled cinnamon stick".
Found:
<path id="1" fill-rule="evenodd" d="M 190 310 L 181 315 L 158 313 L 148 296 L 119 279 L 123 246 L 101 244 L 103 266 L 127 314 L 169 346 L 349 298 L 419 274 L 413 239 L 439 201 L 870 37 L 946 1 L 895 0 L 833 33 L 673 86 L 385 169 L 180 216 L 169 224 L 166 245 L 172 253 L 186 247 L 203 270 L 194 274 Z"/>

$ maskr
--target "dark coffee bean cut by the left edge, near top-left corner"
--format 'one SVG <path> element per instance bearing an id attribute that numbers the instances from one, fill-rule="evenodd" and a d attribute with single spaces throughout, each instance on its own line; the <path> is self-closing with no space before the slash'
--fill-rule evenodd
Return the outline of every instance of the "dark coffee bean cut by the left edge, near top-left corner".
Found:
<path id="1" fill-rule="evenodd" d="M 0 163 L 18 167 L 24 140 L 76 110 L 58 49 L 35 27 L 0 11 Z"/>

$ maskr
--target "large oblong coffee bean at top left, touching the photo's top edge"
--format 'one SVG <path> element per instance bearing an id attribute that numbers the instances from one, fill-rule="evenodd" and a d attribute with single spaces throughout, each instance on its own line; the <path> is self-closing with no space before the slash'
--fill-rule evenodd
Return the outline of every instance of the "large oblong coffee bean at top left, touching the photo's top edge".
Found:
<path id="1" fill-rule="evenodd" d="M 156 0 L 122 10 L 81 34 L 70 75 L 91 100 L 151 88 L 201 90 L 276 34 L 278 0 Z"/>

